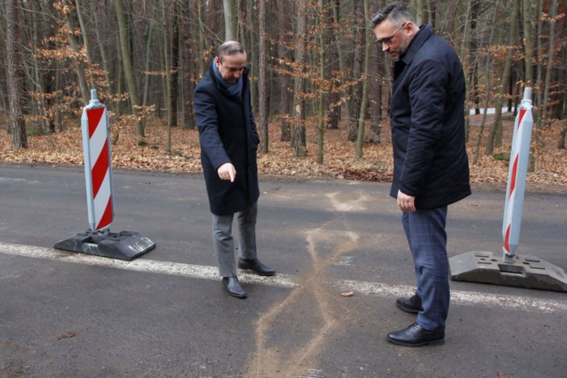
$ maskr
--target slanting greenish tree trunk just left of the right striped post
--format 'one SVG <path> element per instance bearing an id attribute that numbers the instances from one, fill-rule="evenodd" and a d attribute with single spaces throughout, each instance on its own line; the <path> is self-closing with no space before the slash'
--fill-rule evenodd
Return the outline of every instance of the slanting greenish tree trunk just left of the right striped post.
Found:
<path id="1" fill-rule="evenodd" d="M 486 150 L 485 155 L 492 155 L 494 152 L 494 146 L 502 145 L 502 104 L 504 101 L 504 92 L 506 90 L 506 82 L 510 76 L 510 69 L 512 67 L 512 58 L 514 56 L 514 48 L 512 47 L 516 43 L 516 32 L 518 29 L 518 10 L 519 2 L 517 0 L 513 1 L 512 15 L 510 19 L 510 39 L 509 48 L 506 57 L 506 63 L 504 65 L 504 71 L 502 73 L 502 79 L 500 80 L 500 89 L 498 90 L 498 95 L 496 97 L 496 113 L 494 116 L 494 123 L 490 126 L 488 131 L 488 139 L 486 140 Z"/>

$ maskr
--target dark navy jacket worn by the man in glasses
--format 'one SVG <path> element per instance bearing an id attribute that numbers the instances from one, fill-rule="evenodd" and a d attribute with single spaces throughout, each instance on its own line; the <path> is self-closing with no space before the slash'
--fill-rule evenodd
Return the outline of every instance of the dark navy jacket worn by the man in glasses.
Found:
<path id="1" fill-rule="evenodd" d="M 422 26 L 394 64 L 390 196 L 399 189 L 416 197 L 417 209 L 431 209 L 471 194 L 464 97 L 459 58 L 430 25 Z"/>

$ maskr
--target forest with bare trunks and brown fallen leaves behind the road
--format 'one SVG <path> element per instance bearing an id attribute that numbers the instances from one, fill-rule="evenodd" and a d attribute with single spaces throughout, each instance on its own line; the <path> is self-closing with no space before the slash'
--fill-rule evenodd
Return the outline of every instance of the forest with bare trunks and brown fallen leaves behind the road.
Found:
<path id="1" fill-rule="evenodd" d="M 463 63 L 471 180 L 506 182 L 515 112 L 532 87 L 528 182 L 567 192 L 567 0 L 402 2 Z M 238 40 L 261 173 L 391 180 L 393 62 L 369 26 L 386 1 L 0 3 L 0 161 L 83 164 L 81 112 L 96 89 L 113 167 L 200 172 L 193 89 L 215 47 Z"/>

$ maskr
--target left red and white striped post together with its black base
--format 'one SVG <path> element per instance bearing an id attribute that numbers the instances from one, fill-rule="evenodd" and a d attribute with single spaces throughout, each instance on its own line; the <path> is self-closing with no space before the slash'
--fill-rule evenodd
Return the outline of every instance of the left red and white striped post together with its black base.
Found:
<path id="1" fill-rule="evenodd" d="M 57 249 L 132 261 L 155 248 L 155 243 L 133 231 L 109 232 L 114 219 L 110 124 L 107 109 L 96 90 L 81 117 L 84 181 L 87 190 L 88 224 L 91 229 L 53 245 Z"/>

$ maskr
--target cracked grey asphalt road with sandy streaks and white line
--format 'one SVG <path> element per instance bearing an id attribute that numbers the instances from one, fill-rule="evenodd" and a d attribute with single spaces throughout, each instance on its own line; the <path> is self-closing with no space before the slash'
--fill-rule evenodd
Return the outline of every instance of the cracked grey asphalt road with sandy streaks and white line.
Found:
<path id="1" fill-rule="evenodd" d="M 87 230 L 82 168 L 0 165 L 0 377 L 567 376 L 567 295 L 451 282 L 444 346 L 386 341 L 414 316 L 390 185 L 261 179 L 259 257 L 272 278 L 223 291 L 201 176 L 114 172 L 111 231 L 133 262 L 52 249 Z M 448 253 L 500 254 L 504 194 L 450 206 Z M 567 269 L 567 195 L 526 193 L 518 254 Z M 343 297 L 342 292 L 354 295 Z"/>

